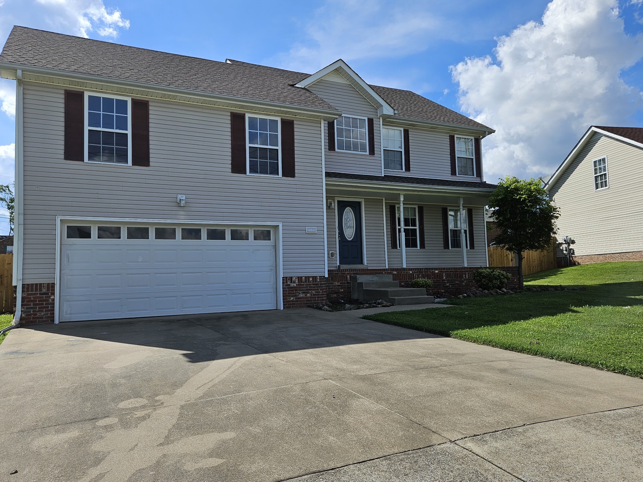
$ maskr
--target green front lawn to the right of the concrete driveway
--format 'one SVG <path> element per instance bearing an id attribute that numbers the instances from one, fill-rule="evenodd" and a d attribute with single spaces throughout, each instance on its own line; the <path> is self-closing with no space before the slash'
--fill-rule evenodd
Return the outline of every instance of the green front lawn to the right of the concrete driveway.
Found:
<path id="1" fill-rule="evenodd" d="M 449 299 L 455 307 L 365 318 L 643 378 L 643 262 L 553 269 L 525 284 L 586 290 Z"/>

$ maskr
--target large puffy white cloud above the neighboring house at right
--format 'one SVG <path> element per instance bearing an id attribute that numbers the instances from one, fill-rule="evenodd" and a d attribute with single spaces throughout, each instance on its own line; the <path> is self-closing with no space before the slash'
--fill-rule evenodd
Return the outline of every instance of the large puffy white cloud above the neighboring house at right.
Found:
<path id="1" fill-rule="evenodd" d="M 590 125 L 627 125 L 639 89 L 620 73 L 643 57 L 616 0 L 554 0 L 541 22 L 498 39 L 491 57 L 451 67 L 462 109 L 496 129 L 485 178 L 551 174 Z"/>

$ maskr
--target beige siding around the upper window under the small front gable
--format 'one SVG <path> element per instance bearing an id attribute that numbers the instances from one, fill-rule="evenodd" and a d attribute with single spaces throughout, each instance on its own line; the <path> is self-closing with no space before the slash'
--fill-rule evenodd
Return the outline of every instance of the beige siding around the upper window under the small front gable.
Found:
<path id="1" fill-rule="evenodd" d="M 356 91 L 355 87 L 343 82 L 318 80 L 309 90 L 331 103 L 346 116 L 372 118 L 374 124 L 375 156 L 328 150 L 328 123 L 324 123 L 324 145 L 326 148 L 326 170 L 354 174 L 382 175 L 381 136 L 377 109 Z"/>

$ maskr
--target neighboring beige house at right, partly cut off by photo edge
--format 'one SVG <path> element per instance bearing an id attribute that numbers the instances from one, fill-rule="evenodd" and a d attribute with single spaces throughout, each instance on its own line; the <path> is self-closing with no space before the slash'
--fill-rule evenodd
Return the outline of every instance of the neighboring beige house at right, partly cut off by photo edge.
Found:
<path id="1" fill-rule="evenodd" d="M 575 263 L 643 260 L 642 183 L 643 128 L 585 132 L 545 186 L 561 211 L 558 240 L 575 240 Z"/>

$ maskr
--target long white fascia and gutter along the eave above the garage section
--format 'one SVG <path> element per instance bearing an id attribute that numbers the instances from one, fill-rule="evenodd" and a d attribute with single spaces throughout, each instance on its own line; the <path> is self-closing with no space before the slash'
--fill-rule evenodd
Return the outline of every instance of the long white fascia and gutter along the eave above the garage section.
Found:
<path id="1" fill-rule="evenodd" d="M 210 102 L 219 102 L 213 103 L 212 105 L 221 105 L 222 107 L 233 106 L 236 109 L 248 109 L 251 107 L 262 107 L 263 109 L 272 109 L 277 113 L 287 114 L 287 115 L 296 115 L 294 112 L 300 114 L 309 114 L 311 118 L 323 118 L 323 120 L 334 120 L 342 115 L 341 111 L 336 111 L 332 109 L 318 109 L 316 107 L 302 107 L 299 105 L 289 104 L 285 102 L 275 102 L 270 100 L 258 100 L 254 98 L 247 98 L 241 96 L 233 96 L 227 94 L 215 94 L 208 93 L 204 91 L 195 91 L 192 89 L 181 89 L 180 87 L 167 87 L 164 85 L 158 84 L 148 84 L 147 82 L 136 82 L 134 80 L 121 80 L 114 79 L 99 75 L 89 75 L 81 73 L 71 73 L 67 71 L 59 71 L 56 69 L 47 69 L 44 67 L 32 67 L 32 66 L 21 66 L 19 64 L 12 64 L 8 62 L 0 62 L 0 76 L 2 78 L 8 78 L 10 80 L 15 80 L 17 69 L 23 71 L 23 76 L 28 76 L 29 73 L 33 75 L 41 75 L 46 80 L 37 80 L 32 78 L 24 78 L 24 80 L 31 80 L 32 82 L 46 82 L 48 84 L 57 84 L 55 80 L 66 80 L 71 87 L 81 87 L 80 85 L 75 85 L 73 82 L 94 82 L 95 84 L 105 85 L 115 91 L 118 89 L 123 89 L 123 86 L 128 89 L 139 89 L 143 93 L 136 94 L 143 97 L 156 97 L 163 98 L 167 100 L 177 100 L 171 98 L 172 96 L 185 96 L 186 98 L 197 100 L 208 100 Z M 95 89 L 94 89 L 95 90 Z M 158 93 L 162 96 L 154 96 L 145 93 Z M 185 101 L 188 102 L 188 101 Z M 194 102 L 199 103 L 199 102 Z M 225 104 L 225 105 L 224 105 Z M 253 110 L 253 109 L 250 109 Z M 280 112 L 279 112 L 280 111 Z"/>

